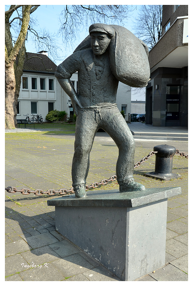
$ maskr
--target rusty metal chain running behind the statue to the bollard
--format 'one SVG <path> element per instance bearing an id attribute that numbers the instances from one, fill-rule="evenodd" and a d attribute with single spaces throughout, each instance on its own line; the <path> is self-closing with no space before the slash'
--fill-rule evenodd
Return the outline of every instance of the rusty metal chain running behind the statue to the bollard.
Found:
<path id="1" fill-rule="evenodd" d="M 145 161 L 147 161 L 147 159 L 152 157 L 155 153 L 157 153 L 157 151 L 151 151 L 147 156 L 143 157 L 141 159 L 141 161 L 135 163 L 134 168 L 137 168 L 140 164 L 142 164 Z M 185 155 L 183 152 L 180 152 L 178 149 L 176 149 L 176 153 L 180 154 L 180 156 L 185 156 L 186 158 L 188 158 L 188 154 Z M 109 178 L 109 179 L 103 179 L 100 183 L 95 182 L 95 183 L 92 183 L 90 186 L 86 185 L 86 190 L 89 190 L 91 188 L 94 189 L 94 188 L 97 188 L 97 187 L 99 187 L 101 185 L 104 186 L 104 185 L 108 184 L 109 182 L 115 181 L 116 179 L 117 179 L 117 176 L 114 175 L 114 176 L 111 176 L 111 178 Z M 35 191 L 31 191 L 31 190 L 29 190 L 27 188 L 23 188 L 21 190 L 17 190 L 15 187 L 9 186 L 9 187 L 5 188 L 5 190 L 7 192 L 9 192 L 9 193 L 12 193 L 12 194 L 14 194 L 16 192 L 21 192 L 21 194 L 23 194 L 23 195 L 28 195 L 30 193 L 34 193 L 37 196 L 41 196 L 42 194 L 48 194 L 50 196 L 51 195 L 55 195 L 55 194 L 59 194 L 59 195 L 74 194 L 73 187 L 70 188 L 70 190 L 60 189 L 60 190 L 56 191 L 56 190 L 50 189 L 50 190 L 47 190 L 47 191 L 43 191 L 43 190 L 37 189 Z"/>

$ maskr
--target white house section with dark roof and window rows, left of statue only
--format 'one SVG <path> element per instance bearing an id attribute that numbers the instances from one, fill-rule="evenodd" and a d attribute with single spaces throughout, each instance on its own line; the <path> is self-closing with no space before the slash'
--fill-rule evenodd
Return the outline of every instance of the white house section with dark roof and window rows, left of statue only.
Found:
<path id="1" fill-rule="evenodd" d="M 45 51 L 27 53 L 21 78 L 21 88 L 17 104 L 17 119 L 24 114 L 41 114 L 46 119 L 50 110 L 62 109 L 62 89 L 54 74 L 56 64 Z"/>

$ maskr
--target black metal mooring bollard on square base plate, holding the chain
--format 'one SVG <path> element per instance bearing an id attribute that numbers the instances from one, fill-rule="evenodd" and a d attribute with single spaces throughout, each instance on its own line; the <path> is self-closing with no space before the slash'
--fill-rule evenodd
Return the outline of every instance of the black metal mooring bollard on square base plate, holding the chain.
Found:
<path id="1" fill-rule="evenodd" d="M 170 145 L 157 145 L 153 148 L 155 153 L 155 172 L 145 173 L 144 176 L 169 181 L 181 177 L 180 174 L 172 173 L 173 157 L 176 148 Z"/>

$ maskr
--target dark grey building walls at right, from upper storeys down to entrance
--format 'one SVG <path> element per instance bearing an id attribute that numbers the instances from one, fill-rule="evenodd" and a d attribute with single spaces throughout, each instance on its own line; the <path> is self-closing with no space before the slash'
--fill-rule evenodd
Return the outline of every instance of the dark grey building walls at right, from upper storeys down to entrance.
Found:
<path id="1" fill-rule="evenodd" d="M 184 19 L 177 19 L 177 17 L 186 17 L 187 15 L 188 5 L 180 5 L 175 12 L 174 5 L 163 5 L 162 31 L 169 20 L 170 28 L 167 33 L 162 34 L 161 39 L 149 52 L 151 70 L 177 47 L 188 46 L 183 43 Z M 179 87 L 180 94 L 166 92 L 166 90 L 170 90 L 170 87 L 171 90 Z M 177 109 L 175 104 L 179 104 L 179 112 L 175 111 Z M 151 80 L 146 88 L 145 111 L 146 124 L 188 126 L 188 67 L 158 67 L 151 72 Z M 178 115 L 176 115 L 177 113 Z"/>

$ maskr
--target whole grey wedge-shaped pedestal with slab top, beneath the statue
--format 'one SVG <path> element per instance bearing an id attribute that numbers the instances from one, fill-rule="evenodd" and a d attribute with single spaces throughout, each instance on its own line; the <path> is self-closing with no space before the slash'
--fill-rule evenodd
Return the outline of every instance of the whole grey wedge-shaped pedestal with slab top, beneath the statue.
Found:
<path id="1" fill-rule="evenodd" d="M 88 191 L 48 200 L 56 230 L 123 281 L 165 265 L 167 198 L 180 187 Z"/>

